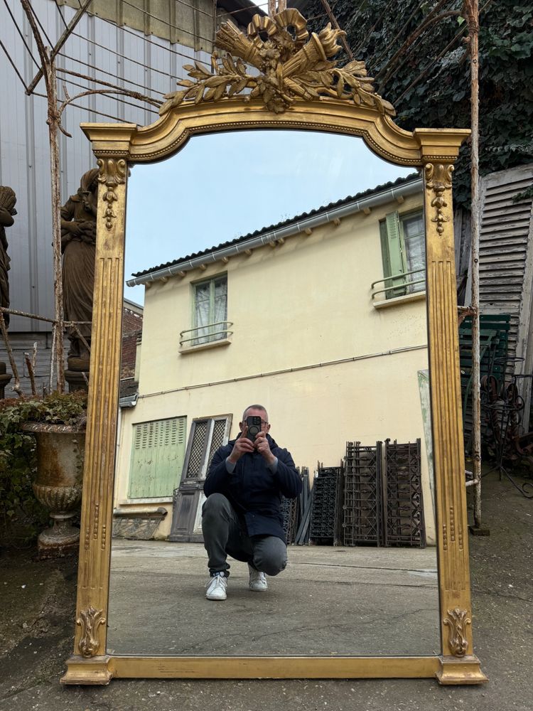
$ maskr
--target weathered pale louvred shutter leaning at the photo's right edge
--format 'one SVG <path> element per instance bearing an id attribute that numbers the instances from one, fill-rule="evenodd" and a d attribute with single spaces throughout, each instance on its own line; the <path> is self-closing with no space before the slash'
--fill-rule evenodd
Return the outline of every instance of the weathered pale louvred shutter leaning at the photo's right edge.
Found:
<path id="1" fill-rule="evenodd" d="M 533 164 L 529 164 L 490 173 L 482 178 L 480 191 L 480 312 L 510 314 L 508 355 L 523 360 L 510 360 L 508 372 L 517 374 L 533 370 L 533 220 L 532 198 L 516 202 L 514 198 L 532 181 Z M 524 412 L 529 413 L 531 378 L 519 378 L 517 385 L 525 400 Z"/>

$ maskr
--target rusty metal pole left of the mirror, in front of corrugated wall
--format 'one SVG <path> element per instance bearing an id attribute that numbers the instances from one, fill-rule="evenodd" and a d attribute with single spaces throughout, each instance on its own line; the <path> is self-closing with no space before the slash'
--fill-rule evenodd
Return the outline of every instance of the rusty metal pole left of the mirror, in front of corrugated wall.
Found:
<path id="1" fill-rule="evenodd" d="M 30 23 L 33 38 L 35 38 L 39 56 L 41 57 L 43 76 L 48 100 L 48 138 L 50 142 L 50 186 L 52 200 L 52 244 L 54 273 L 54 342 L 55 366 L 57 374 L 57 389 L 65 391 L 65 363 L 63 355 L 63 273 L 61 264 L 61 196 L 59 186 L 59 143 L 58 132 L 60 113 L 58 112 L 58 85 L 55 77 L 55 60 L 51 50 L 45 47 L 36 20 L 33 16 L 29 0 L 21 0 L 21 6 Z M 29 91 L 29 90 L 28 90 Z M 50 383 L 51 387 L 51 383 Z"/>

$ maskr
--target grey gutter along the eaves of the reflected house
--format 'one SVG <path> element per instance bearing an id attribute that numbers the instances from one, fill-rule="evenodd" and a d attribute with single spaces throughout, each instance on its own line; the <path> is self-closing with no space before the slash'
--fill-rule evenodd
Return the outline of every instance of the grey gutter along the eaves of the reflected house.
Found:
<path id="1" fill-rule="evenodd" d="M 140 277 L 129 279 L 126 284 L 129 287 L 136 287 L 138 284 L 156 282 L 162 277 L 173 277 L 179 272 L 190 272 L 192 269 L 198 269 L 198 267 L 203 264 L 207 265 L 212 262 L 218 262 L 224 257 L 235 257 L 235 255 L 242 254 L 242 252 L 246 252 L 247 250 L 253 250 L 255 247 L 263 247 L 271 242 L 276 242 L 276 240 L 291 237 L 291 235 L 297 235 L 299 232 L 305 232 L 306 230 L 311 230 L 319 227 L 320 225 L 327 225 L 333 220 L 343 218 L 346 215 L 352 215 L 353 213 L 361 212 L 367 208 L 375 208 L 378 205 L 389 203 L 397 198 L 407 198 L 407 196 L 415 195 L 416 193 L 421 192 L 422 183 L 422 178 L 417 178 L 416 180 L 410 181 L 404 185 L 388 188 L 386 191 L 379 192 L 375 195 L 369 196 L 368 198 L 354 200 L 347 205 L 340 205 L 338 208 L 324 210 L 318 215 L 311 215 L 308 218 L 303 218 L 303 220 L 297 220 L 290 225 L 284 225 L 284 227 L 279 228 L 279 230 L 264 232 L 262 235 L 250 237 L 249 240 L 239 242 L 236 245 L 222 247 L 220 249 L 213 250 L 212 252 L 208 252 L 208 254 L 201 255 L 200 257 L 194 257 L 192 260 L 171 264 L 169 267 L 157 269 L 149 274 L 143 274 Z"/>

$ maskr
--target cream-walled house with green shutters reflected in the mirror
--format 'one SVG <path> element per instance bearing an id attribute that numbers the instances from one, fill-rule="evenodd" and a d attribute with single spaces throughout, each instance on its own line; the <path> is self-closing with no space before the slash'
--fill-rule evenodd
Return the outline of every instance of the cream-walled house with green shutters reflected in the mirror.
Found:
<path id="1" fill-rule="evenodd" d="M 347 442 L 419 439 L 434 543 L 422 205 L 415 173 L 134 275 L 139 392 L 120 413 L 115 535 L 201 540 L 210 457 L 261 402 L 311 473 Z"/>

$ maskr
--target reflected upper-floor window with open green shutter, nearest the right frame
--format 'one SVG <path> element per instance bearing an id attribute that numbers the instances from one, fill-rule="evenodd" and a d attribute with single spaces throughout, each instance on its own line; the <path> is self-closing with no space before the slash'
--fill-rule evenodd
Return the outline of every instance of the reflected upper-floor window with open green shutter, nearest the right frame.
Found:
<path id="1" fill-rule="evenodd" d="M 387 299 L 426 289 L 426 242 L 422 210 L 389 213 L 379 223 L 384 294 Z"/>

